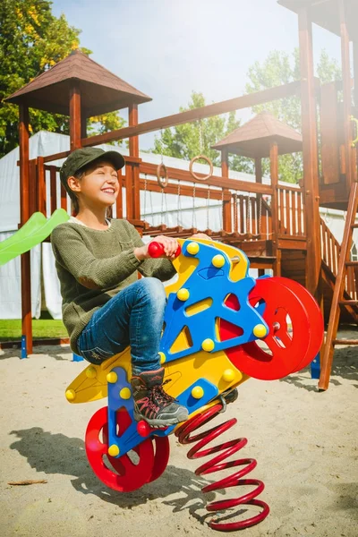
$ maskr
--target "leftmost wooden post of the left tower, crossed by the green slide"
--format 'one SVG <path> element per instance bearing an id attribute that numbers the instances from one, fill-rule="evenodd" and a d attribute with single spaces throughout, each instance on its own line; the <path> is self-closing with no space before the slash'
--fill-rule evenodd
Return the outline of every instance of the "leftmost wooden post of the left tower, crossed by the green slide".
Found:
<path id="1" fill-rule="evenodd" d="M 30 218 L 29 138 L 29 108 L 21 104 L 19 122 L 21 226 Z M 32 353 L 30 251 L 21 255 L 21 334 L 25 337 L 25 346 L 21 345 L 21 358 L 26 358 Z"/>

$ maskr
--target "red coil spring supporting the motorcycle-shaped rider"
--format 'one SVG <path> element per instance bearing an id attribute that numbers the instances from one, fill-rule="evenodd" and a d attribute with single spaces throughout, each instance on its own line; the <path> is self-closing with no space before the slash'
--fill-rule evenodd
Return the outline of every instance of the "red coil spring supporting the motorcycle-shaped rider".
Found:
<path id="1" fill-rule="evenodd" d="M 190 436 L 194 430 L 199 429 L 202 425 L 205 425 L 205 423 L 208 423 L 213 420 L 217 416 L 217 414 L 220 413 L 222 408 L 223 405 L 219 403 L 217 405 L 211 406 L 208 410 L 205 410 L 202 413 L 196 414 L 190 420 L 188 420 L 188 422 L 184 422 L 183 425 L 175 431 L 175 435 L 178 437 L 179 442 L 181 444 L 192 444 L 192 442 L 198 442 L 196 446 L 192 447 L 192 449 L 188 452 L 187 456 L 190 459 L 200 458 L 202 456 L 209 456 L 219 451 L 223 452 L 220 453 L 220 455 L 210 459 L 204 465 L 201 465 L 195 471 L 196 475 L 205 475 L 207 473 L 219 472 L 220 470 L 224 470 L 226 468 L 233 468 L 234 466 L 245 465 L 245 467 L 239 470 L 239 472 L 233 473 L 232 475 L 229 475 L 218 482 L 210 483 L 202 489 L 202 492 L 222 490 L 228 487 L 236 487 L 240 485 L 257 485 L 257 488 L 251 490 L 251 492 L 248 492 L 240 498 L 213 501 L 207 505 L 208 511 L 222 511 L 224 509 L 236 507 L 239 505 L 262 507 L 262 511 L 259 513 L 259 515 L 251 516 L 251 518 L 247 518 L 246 520 L 240 522 L 220 523 L 219 521 L 217 522 L 214 520 L 211 520 L 209 522 L 209 526 L 214 530 L 218 530 L 220 532 L 233 532 L 235 530 L 243 530 L 244 528 L 251 527 L 254 524 L 259 524 L 259 522 L 261 522 L 268 516 L 269 507 L 268 504 L 266 504 L 264 501 L 261 501 L 260 499 L 255 499 L 265 488 L 263 482 L 257 479 L 241 479 L 244 475 L 250 473 L 251 470 L 256 467 L 257 462 L 255 459 L 245 458 L 222 463 L 224 459 L 228 458 L 229 456 L 236 453 L 236 451 L 239 451 L 244 446 L 246 446 L 247 439 L 234 439 L 218 446 L 202 449 L 202 447 L 205 447 L 207 444 L 209 444 L 209 442 L 214 439 L 217 439 L 217 437 L 219 437 L 221 434 L 224 434 L 226 430 L 231 429 L 231 427 L 233 427 L 234 424 L 237 422 L 235 418 L 228 420 L 227 422 L 221 423 L 220 425 L 217 425 L 210 430 L 204 430 L 199 434 L 196 434 L 192 437 Z"/>

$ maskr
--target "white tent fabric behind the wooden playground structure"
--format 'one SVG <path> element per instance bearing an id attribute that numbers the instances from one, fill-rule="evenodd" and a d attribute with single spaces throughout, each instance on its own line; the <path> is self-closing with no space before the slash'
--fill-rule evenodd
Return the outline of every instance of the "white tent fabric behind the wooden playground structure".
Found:
<path id="1" fill-rule="evenodd" d="M 112 145 L 99 145 L 105 150 L 120 150 L 127 154 L 125 149 Z M 69 137 L 54 132 L 38 132 L 30 138 L 30 158 L 46 157 L 70 149 Z M 145 162 L 159 164 L 160 155 L 141 153 Z M 13 149 L 8 155 L 0 159 L 0 242 L 15 233 L 20 222 L 20 177 L 17 161 L 19 148 Z M 164 157 L 164 164 L 187 170 L 189 163 L 179 158 Z M 52 165 L 61 166 L 63 160 L 51 162 Z M 208 173 L 208 166 L 197 164 L 195 171 Z M 219 168 L 214 168 L 214 175 L 221 175 Z M 240 172 L 230 172 L 230 177 L 242 181 L 254 182 L 255 177 Z M 48 181 L 48 178 L 47 178 Z M 268 178 L 264 178 L 268 183 Z M 183 182 L 183 185 L 185 183 Z M 47 188 L 49 193 L 49 188 Z M 60 184 L 57 178 L 57 199 L 60 196 Z M 124 192 L 125 199 L 125 192 Z M 195 210 L 193 210 L 193 207 Z M 141 217 L 153 226 L 160 223 L 166 226 L 198 227 L 205 229 L 208 226 L 213 231 L 221 228 L 221 203 L 217 200 L 202 200 L 168 194 L 163 196 L 157 192 L 141 192 Z M 50 202 L 47 199 L 47 216 L 50 216 Z M 114 217 L 116 215 L 114 214 Z M 124 215 L 125 216 L 125 215 Z M 322 209 L 328 227 L 337 240 L 341 242 L 344 230 L 344 215 L 341 211 Z M 147 238 L 146 238 L 147 240 Z M 358 230 L 354 235 L 358 244 Z M 31 251 L 31 308 L 32 315 L 40 315 L 41 308 L 41 272 L 45 303 L 47 310 L 54 319 L 61 319 L 61 295 L 59 281 L 55 272 L 55 260 L 49 243 L 42 243 Z M 256 271 L 252 272 L 256 276 Z M 0 319 L 21 319 L 21 264 L 20 258 L 10 261 L 0 267 Z"/>

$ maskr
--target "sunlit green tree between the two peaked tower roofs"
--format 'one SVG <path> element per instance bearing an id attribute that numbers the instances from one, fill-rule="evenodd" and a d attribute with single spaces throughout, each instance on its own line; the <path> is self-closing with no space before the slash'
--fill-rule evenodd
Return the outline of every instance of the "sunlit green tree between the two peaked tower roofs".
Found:
<path id="1" fill-rule="evenodd" d="M 180 107 L 179 111 L 192 110 L 205 107 L 205 98 L 202 93 L 192 92 L 188 107 Z M 216 115 L 189 124 L 177 125 L 165 129 L 161 136 L 156 137 L 153 153 L 167 155 L 168 157 L 190 160 L 198 155 L 209 157 L 214 166 L 220 166 L 220 152 L 211 149 L 217 141 L 222 140 L 240 126 L 235 119 L 235 113 Z M 251 162 L 246 158 L 232 158 L 231 169 L 250 172 Z"/>

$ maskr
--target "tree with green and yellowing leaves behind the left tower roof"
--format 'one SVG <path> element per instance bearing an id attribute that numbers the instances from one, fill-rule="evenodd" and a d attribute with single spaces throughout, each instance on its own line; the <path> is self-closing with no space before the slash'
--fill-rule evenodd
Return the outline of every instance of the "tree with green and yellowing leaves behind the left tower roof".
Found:
<path id="1" fill-rule="evenodd" d="M 69 26 L 64 15 L 51 13 L 49 0 L 0 2 L 0 158 L 18 145 L 19 108 L 3 98 L 19 90 L 41 72 L 80 47 L 81 30 Z M 81 47 L 90 54 L 90 50 Z M 90 133 L 123 126 L 117 112 L 91 118 Z M 69 132 L 69 118 L 30 108 L 30 132 Z"/>

